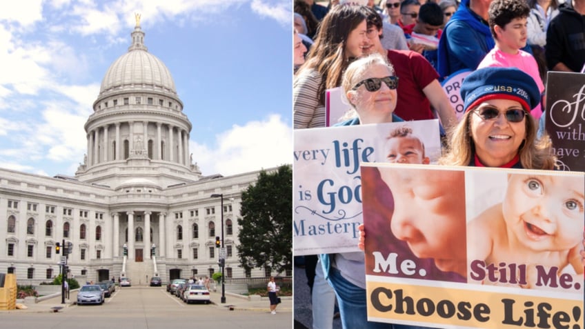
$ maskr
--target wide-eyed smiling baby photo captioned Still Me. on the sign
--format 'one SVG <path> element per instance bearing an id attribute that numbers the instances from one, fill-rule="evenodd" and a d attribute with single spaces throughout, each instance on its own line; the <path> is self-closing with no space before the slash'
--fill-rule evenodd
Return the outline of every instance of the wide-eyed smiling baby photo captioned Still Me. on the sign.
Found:
<path id="1" fill-rule="evenodd" d="M 468 177 L 470 283 L 582 293 L 585 179 L 575 174 Z"/>

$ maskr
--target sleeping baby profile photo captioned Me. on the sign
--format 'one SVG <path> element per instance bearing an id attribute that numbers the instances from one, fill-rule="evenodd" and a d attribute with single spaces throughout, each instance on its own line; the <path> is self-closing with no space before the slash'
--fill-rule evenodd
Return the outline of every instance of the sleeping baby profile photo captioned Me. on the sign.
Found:
<path id="1" fill-rule="evenodd" d="M 466 282 L 465 172 L 362 166 L 366 275 Z"/>

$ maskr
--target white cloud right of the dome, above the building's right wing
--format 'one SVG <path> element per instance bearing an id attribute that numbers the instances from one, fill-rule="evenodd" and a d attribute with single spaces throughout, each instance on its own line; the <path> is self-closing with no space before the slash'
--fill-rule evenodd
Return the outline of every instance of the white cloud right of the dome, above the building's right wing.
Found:
<path id="1" fill-rule="evenodd" d="M 217 134 L 212 146 L 195 141 L 190 145 L 193 161 L 203 175 L 235 175 L 293 161 L 293 129 L 277 114 L 245 126 L 232 126 Z"/>

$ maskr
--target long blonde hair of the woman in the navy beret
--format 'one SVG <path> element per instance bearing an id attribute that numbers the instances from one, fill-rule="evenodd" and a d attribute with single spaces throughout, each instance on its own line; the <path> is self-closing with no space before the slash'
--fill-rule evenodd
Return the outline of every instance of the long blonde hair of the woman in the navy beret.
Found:
<path id="1" fill-rule="evenodd" d="M 449 131 L 449 144 L 446 154 L 439 159 L 439 164 L 448 166 L 469 166 L 475 154 L 475 143 L 471 136 L 471 115 L 475 108 L 468 110 L 461 121 Z M 522 168 L 526 169 L 555 169 L 557 158 L 553 155 L 553 143 L 545 134 L 536 138 L 537 126 L 535 119 L 526 115 L 526 136 L 518 148 L 518 155 Z"/>

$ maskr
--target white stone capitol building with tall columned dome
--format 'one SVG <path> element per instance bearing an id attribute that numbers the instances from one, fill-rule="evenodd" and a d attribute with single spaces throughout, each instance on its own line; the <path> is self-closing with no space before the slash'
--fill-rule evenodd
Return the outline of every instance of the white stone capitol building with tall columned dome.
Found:
<path id="1" fill-rule="evenodd" d="M 75 177 L 0 169 L 0 272 L 15 273 L 19 284 L 52 281 L 64 239 L 72 243 L 70 275 L 83 280 L 210 276 L 219 272 L 223 212 L 226 277 L 271 275 L 246 272 L 237 258 L 241 192 L 259 172 L 201 175 L 171 74 L 144 46 L 138 21 L 131 35 L 103 77 Z M 223 195 L 223 208 L 212 195 Z"/>

